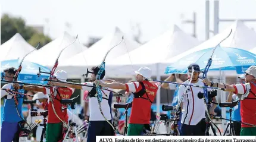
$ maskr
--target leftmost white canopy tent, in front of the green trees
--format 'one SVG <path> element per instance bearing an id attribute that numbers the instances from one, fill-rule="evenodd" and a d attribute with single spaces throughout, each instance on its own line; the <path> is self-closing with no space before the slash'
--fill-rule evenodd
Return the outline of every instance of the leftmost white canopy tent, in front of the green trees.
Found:
<path id="1" fill-rule="evenodd" d="M 34 49 L 19 33 L 16 33 L 10 40 L 1 45 L 0 61 L 23 58 L 23 56 Z"/>

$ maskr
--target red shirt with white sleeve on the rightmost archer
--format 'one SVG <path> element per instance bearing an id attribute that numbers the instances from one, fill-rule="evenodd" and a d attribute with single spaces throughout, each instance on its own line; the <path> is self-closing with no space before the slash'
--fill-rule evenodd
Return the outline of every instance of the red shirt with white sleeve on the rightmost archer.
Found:
<path id="1" fill-rule="evenodd" d="M 254 82 L 256 83 L 256 81 Z M 253 83 L 248 84 L 251 88 L 251 91 L 255 94 L 256 93 L 256 86 Z M 236 84 L 235 86 L 235 93 L 236 94 L 243 94 L 246 93 L 248 88 L 246 87 L 246 84 Z M 254 98 L 254 99 L 243 99 L 241 100 L 241 120 L 242 122 L 248 123 L 248 124 L 254 124 L 256 125 L 256 96 L 249 93 L 248 98 Z M 250 125 L 242 124 L 241 127 L 252 127 Z"/>

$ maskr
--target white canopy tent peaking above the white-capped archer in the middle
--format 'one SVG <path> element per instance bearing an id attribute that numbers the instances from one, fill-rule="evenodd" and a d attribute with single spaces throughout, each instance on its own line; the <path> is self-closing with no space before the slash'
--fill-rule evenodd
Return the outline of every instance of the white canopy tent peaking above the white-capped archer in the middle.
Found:
<path id="1" fill-rule="evenodd" d="M 198 39 L 184 33 L 179 27 L 174 25 L 170 30 L 150 40 L 145 45 L 111 60 L 108 64 L 154 64 L 187 51 L 196 45 L 199 45 Z"/>

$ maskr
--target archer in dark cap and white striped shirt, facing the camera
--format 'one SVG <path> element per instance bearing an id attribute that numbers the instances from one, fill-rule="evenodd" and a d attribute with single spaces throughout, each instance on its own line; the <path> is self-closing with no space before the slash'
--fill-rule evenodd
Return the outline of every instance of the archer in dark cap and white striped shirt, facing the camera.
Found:
<path id="1" fill-rule="evenodd" d="M 204 85 L 202 80 L 199 78 L 201 71 L 198 64 L 189 65 L 188 71 L 191 75 L 190 79 L 192 85 Z M 189 80 L 185 81 L 183 84 L 188 83 Z M 178 101 L 181 101 L 180 108 L 182 109 L 182 126 L 180 135 L 205 135 L 205 111 L 207 110 L 204 107 L 204 100 L 199 99 L 198 97 L 198 93 L 203 90 L 199 87 L 191 86 L 188 86 L 188 90 L 185 89 L 185 86 L 180 86 L 178 91 Z M 182 96 L 184 96 L 183 99 Z M 216 105 L 213 104 L 210 108 L 211 115 L 214 115 L 215 108 Z"/>

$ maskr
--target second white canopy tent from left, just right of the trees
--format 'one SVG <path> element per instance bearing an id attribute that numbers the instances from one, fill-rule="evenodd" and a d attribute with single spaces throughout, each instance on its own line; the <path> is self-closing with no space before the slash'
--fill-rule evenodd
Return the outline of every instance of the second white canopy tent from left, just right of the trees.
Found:
<path id="1" fill-rule="evenodd" d="M 36 62 L 40 65 L 52 66 L 60 51 L 74 42 L 74 40 L 75 37 L 65 31 L 60 37 L 40 48 L 38 52 L 28 55 L 26 60 Z M 70 56 L 76 55 L 86 49 L 88 48 L 80 45 L 79 40 L 76 40 L 76 42 L 68 46 L 68 48 L 61 53 L 58 61 L 64 61 L 65 59 L 70 58 Z"/>

